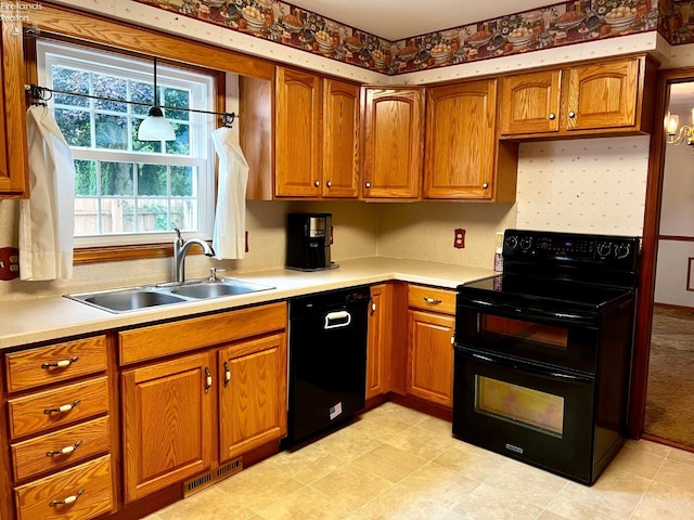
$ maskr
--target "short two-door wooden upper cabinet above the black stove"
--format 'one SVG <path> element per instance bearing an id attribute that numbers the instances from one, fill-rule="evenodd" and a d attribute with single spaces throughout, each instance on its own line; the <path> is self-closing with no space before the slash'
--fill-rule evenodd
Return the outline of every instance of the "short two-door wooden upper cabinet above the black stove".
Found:
<path id="1" fill-rule="evenodd" d="M 518 74 L 501 79 L 500 134 L 601 136 L 653 128 L 657 66 L 645 55 Z"/>

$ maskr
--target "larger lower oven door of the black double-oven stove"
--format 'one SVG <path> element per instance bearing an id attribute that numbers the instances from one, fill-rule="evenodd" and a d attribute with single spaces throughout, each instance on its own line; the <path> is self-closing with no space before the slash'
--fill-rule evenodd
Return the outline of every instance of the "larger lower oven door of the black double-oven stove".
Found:
<path id="1" fill-rule="evenodd" d="M 592 483 L 594 393 L 590 376 L 455 347 L 453 434 Z"/>

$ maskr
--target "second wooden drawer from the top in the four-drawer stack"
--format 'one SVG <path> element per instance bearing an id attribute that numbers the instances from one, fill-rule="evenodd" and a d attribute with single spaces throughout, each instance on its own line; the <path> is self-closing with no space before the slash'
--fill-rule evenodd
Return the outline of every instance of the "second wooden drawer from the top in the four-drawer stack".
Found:
<path id="1" fill-rule="evenodd" d="M 14 440 L 72 425 L 108 411 L 106 376 L 8 400 Z"/>

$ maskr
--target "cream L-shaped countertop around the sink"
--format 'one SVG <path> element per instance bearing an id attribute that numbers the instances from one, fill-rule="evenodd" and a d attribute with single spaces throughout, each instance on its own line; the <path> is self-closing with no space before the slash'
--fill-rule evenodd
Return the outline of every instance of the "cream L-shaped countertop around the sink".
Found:
<path id="1" fill-rule="evenodd" d="M 339 269 L 310 273 L 277 269 L 234 275 L 230 277 L 269 285 L 274 289 L 152 307 L 120 314 L 62 296 L 12 301 L 5 304 L 0 313 L 0 349 L 283 300 L 293 296 L 355 285 L 397 280 L 455 288 L 460 284 L 496 274 L 487 269 L 383 257 L 345 260 L 338 263 Z"/>

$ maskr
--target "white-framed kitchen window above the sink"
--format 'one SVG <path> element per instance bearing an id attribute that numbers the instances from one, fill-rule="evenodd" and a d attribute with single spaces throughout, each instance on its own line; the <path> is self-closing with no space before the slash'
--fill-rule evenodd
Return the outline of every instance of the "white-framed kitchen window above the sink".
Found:
<path id="1" fill-rule="evenodd" d="M 215 76 L 157 63 L 156 104 L 176 141 L 138 141 L 154 103 L 153 61 L 63 42 L 37 42 L 39 84 L 73 152 L 75 247 L 172 242 L 174 227 L 211 238 Z M 133 103 L 142 103 L 133 104 Z"/>

